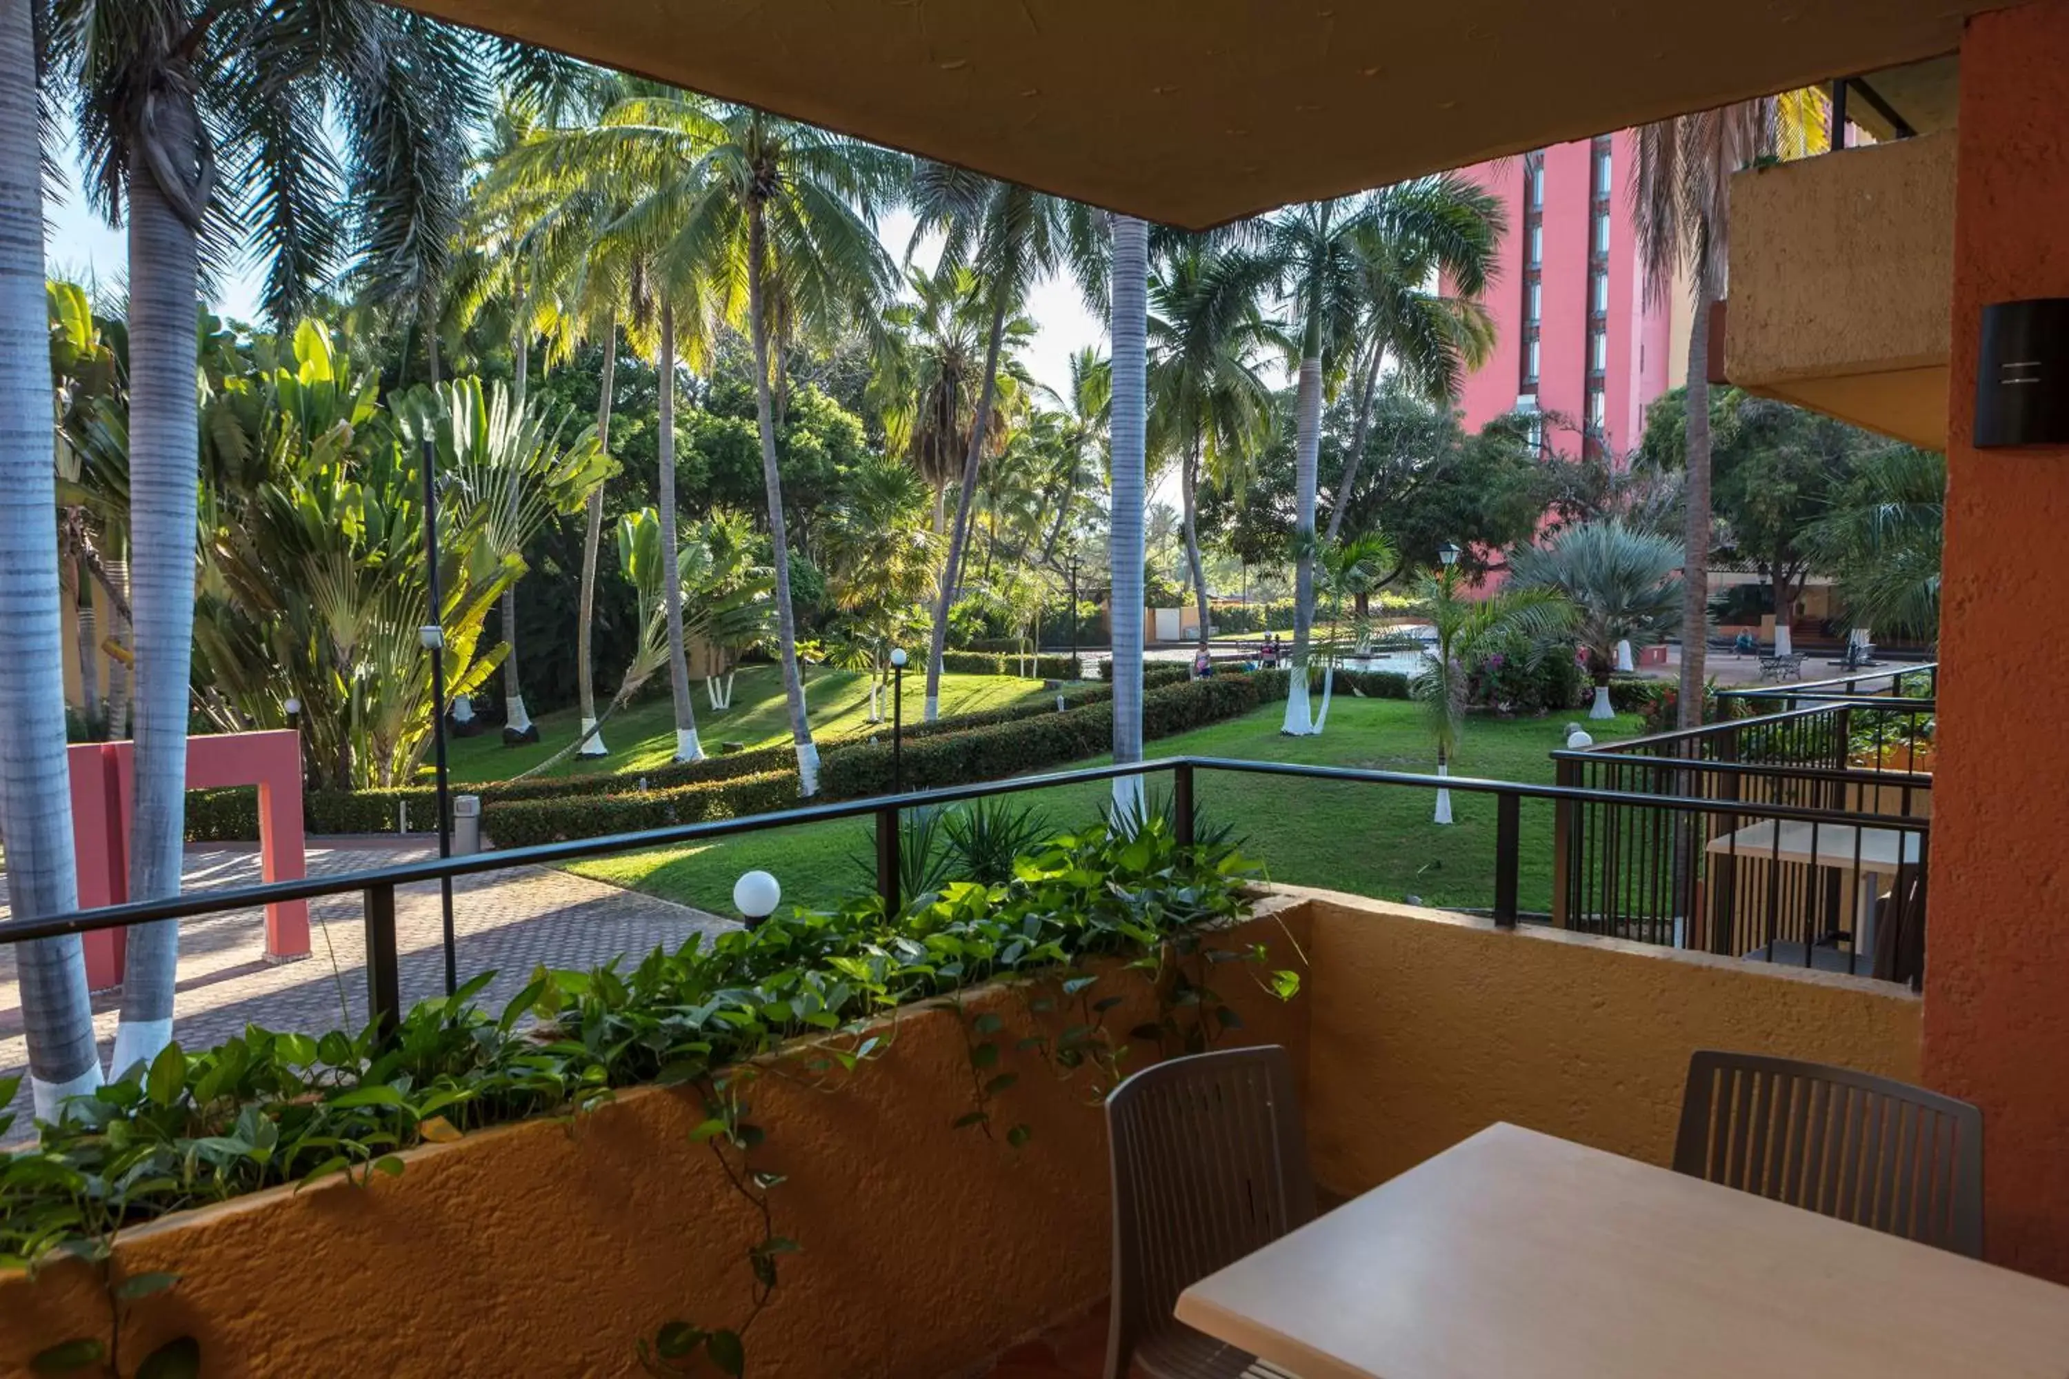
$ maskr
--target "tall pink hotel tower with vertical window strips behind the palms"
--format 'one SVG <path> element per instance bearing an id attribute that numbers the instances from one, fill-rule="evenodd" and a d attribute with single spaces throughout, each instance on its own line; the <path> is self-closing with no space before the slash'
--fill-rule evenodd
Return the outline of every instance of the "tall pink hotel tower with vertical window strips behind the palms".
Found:
<path id="1" fill-rule="evenodd" d="M 1645 304 L 1630 223 L 1630 130 L 1465 170 L 1502 198 L 1508 234 L 1488 287 L 1494 356 L 1465 380 L 1465 426 L 1548 416 L 1562 455 L 1626 455 L 1645 407 L 1688 368 L 1686 292 Z"/>

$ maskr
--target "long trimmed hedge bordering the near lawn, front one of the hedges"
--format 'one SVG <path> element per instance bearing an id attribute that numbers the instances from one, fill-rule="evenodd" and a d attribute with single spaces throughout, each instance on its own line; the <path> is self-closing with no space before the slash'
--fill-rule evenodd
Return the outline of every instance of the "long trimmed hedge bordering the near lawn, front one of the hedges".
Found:
<path id="1" fill-rule="evenodd" d="M 1229 674 L 1167 684 L 1142 697 L 1142 738 L 1165 738 L 1204 724 L 1237 717 L 1285 699 L 1279 672 Z M 985 728 L 958 724 L 954 732 L 904 740 L 906 790 L 933 790 L 1001 779 L 1026 771 L 1097 757 L 1113 746 L 1113 705 L 1107 699 L 1063 713 L 1022 715 Z M 819 763 L 817 800 L 857 800 L 892 790 L 890 742 L 850 742 Z M 563 837 L 598 837 L 677 823 L 730 819 L 790 808 L 799 802 L 797 775 L 778 771 L 730 782 L 706 782 L 646 794 L 567 800 L 486 800 L 482 831 L 499 848 L 521 848 Z"/>

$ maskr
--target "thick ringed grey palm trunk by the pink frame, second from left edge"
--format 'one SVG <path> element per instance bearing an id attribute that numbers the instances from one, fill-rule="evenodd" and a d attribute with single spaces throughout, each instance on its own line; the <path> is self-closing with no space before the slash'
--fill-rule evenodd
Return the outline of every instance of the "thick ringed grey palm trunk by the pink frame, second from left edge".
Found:
<path id="1" fill-rule="evenodd" d="M 159 136 L 192 149 L 192 112 L 168 101 Z M 128 180 L 130 614 L 137 637 L 130 899 L 180 893 L 186 846 L 186 701 L 194 645 L 197 232 L 137 159 Z M 114 1071 L 172 1040 L 178 920 L 128 930 Z"/>

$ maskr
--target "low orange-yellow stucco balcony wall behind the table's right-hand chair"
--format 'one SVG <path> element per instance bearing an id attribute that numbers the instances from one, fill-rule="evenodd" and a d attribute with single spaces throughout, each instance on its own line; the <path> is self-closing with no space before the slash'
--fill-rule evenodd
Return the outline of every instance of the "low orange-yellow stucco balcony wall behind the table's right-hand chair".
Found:
<path id="1" fill-rule="evenodd" d="M 1310 891 L 1308 1133 L 1361 1193 L 1496 1121 L 1666 1164 L 1688 1054 L 1918 1079 L 1899 986 Z"/>

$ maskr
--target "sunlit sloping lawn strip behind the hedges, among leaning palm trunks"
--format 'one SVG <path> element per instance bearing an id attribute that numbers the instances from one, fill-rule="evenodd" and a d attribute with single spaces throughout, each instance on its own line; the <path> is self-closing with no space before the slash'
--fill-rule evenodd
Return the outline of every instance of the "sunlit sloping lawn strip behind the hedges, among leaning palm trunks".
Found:
<path id="1" fill-rule="evenodd" d="M 650 771 L 668 765 L 674 757 L 674 707 L 666 695 L 666 674 L 662 695 L 627 705 L 604 724 L 608 757 L 569 757 L 552 767 L 550 775 L 590 775 L 596 771 Z M 714 713 L 703 697 L 703 682 L 691 691 L 697 697 L 697 736 L 703 750 L 718 753 L 720 742 L 743 742 L 747 746 L 772 746 L 790 740 L 790 713 L 782 699 L 782 676 L 776 666 L 749 666 L 741 670 L 732 684 L 732 707 Z M 1006 705 L 1039 699 L 1041 680 L 1020 680 L 1014 676 L 941 676 L 941 715 L 979 713 L 983 709 L 1003 709 Z M 867 726 L 869 719 L 869 676 L 859 670 L 813 670 L 805 680 L 805 703 L 811 711 L 815 734 L 846 734 Z M 890 691 L 883 695 L 883 713 L 892 707 Z M 927 676 L 906 670 L 904 717 L 917 722 L 927 707 Z M 565 748 L 581 728 L 575 709 L 540 713 L 536 719 L 540 740 L 528 746 L 503 746 L 501 730 L 484 732 L 476 738 L 457 738 L 451 744 L 453 779 L 494 782 L 528 771 Z"/>

